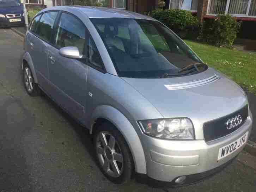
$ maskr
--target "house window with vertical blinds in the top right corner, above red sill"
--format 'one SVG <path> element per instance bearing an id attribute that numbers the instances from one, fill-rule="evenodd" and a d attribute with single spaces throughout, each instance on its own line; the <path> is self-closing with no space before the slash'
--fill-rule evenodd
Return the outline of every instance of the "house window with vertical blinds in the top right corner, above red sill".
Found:
<path id="1" fill-rule="evenodd" d="M 231 14 L 236 17 L 256 17 L 256 0 L 209 0 L 209 15 Z"/>

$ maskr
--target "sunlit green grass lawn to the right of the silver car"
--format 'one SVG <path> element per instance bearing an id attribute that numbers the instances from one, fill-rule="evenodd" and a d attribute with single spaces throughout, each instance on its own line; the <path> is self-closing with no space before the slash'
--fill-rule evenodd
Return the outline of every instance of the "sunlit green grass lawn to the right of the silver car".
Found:
<path id="1" fill-rule="evenodd" d="M 210 67 L 214 67 L 239 85 L 256 93 L 256 53 L 185 42 Z"/>

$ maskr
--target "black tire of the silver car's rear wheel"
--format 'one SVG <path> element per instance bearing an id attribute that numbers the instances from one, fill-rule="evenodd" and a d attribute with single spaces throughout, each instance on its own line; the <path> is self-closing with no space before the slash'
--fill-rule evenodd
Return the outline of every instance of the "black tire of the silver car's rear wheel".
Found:
<path id="1" fill-rule="evenodd" d="M 28 77 L 27 70 L 29 70 L 30 77 Z M 25 89 L 26 89 L 26 92 L 27 92 L 30 96 L 35 97 L 35 96 L 40 95 L 41 90 L 40 90 L 40 88 L 38 87 L 37 83 L 35 83 L 33 74 L 32 74 L 31 69 L 30 69 L 30 67 L 28 66 L 27 63 L 24 63 L 24 64 L 23 64 L 23 82 L 24 82 L 24 87 L 25 87 Z M 28 83 L 29 86 L 27 86 L 26 83 Z M 31 86 L 31 85 L 32 85 L 32 86 Z M 29 88 L 29 87 L 30 87 L 30 88 Z"/>

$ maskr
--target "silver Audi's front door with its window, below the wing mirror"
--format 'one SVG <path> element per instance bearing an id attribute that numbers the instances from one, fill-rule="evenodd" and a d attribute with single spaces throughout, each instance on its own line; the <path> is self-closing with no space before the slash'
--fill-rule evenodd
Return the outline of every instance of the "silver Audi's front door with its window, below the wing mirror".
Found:
<path id="1" fill-rule="evenodd" d="M 50 95 L 73 117 L 85 123 L 88 66 L 82 60 L 62 57 L 59 54 L 59 49 L 63 47 L 77 47 L 80 55 L 83 54 L 85 26 L 73 15 L 62 13 L 56 30 L 54 47 L 48 49 Z"/>

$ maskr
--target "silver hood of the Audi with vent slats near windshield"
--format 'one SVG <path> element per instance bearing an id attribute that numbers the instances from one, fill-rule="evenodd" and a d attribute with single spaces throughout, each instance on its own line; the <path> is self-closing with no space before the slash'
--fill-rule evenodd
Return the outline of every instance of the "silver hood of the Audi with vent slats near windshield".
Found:
<path id="1" fill-rule="evenodd" d="M 185 77 L 122 79 L 164 118 L 188 117 L 201 128 L 204 122 L 237 111 L 248 102 L 242 88 L 213 68 Z"/>

